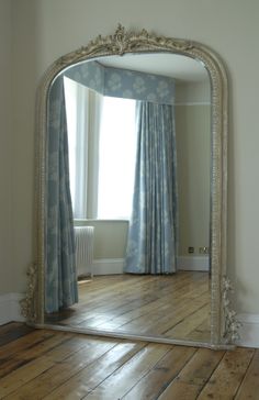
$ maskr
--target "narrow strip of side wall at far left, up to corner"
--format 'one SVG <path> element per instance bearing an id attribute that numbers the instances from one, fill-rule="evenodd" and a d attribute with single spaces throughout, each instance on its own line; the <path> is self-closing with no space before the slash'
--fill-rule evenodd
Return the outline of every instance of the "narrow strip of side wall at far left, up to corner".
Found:
<path id="1" fill-rule="evenodd" d="M 9 0 L 0 1 L 0 293 L 12 291 L 12 9 Z"/>

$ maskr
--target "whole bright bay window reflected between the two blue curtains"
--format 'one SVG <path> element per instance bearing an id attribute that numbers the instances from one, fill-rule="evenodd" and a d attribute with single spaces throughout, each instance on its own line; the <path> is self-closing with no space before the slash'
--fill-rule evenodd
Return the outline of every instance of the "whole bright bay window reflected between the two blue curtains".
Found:
<path id="1" fill-rule="evenodd" d="M 136 101 L 102 97 L 68 78 L 65 97 L 74 216 L 130 219 Z"/>

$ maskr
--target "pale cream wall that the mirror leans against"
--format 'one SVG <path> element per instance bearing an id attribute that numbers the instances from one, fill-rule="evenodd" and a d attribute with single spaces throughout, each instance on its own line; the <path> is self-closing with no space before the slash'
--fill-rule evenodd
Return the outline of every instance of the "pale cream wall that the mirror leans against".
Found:
<path id="1" fill-rule="evenodd" d="M 10 281 L 2 266 L 1 292 L 5 288 L 20 292 L 25 289 L 26 267 L 33 259 L 36 84 L 57 57 L 87 44 L 99 33 L 112 34 L 121 22 L 127 29 L 145 27 L 157 34 L 201 42 L 218 53 L 227 67 L 228 275 L 236 287 L 237 311 L 259 313 L 258 0 L 13 0 L 12 4 L 16 42 L 14 148 L 9 148 L 1 163 L 9 170 L 11 157 L 15 170 L 12 195 L 7 198 L 15 197 L 11 214 L 15 254 L 13 265 L 11 255 L 5 260 L 7 266 L 12 265 L 15 280 Z M 5 174 L 10 180 L 11 175 Z M 1 208 L 7 222 L 5 212 Z"/>

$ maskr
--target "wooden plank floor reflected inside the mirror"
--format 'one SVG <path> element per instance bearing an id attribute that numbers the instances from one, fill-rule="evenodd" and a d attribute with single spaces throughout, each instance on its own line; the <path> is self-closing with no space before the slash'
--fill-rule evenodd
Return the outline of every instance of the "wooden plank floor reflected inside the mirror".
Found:
<path id="1" fill-rule="evenodd" d="M 210 280 L 206 273 L 99 276 L 79 284 L 79 304 L 48 315 L 46 322 L 210 341 Z"/>

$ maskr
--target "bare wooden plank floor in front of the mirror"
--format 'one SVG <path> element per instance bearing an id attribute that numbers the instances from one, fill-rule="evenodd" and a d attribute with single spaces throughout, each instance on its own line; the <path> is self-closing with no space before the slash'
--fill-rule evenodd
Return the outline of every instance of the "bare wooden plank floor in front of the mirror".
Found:
<path id="1" fill-rule="evenodd" d="M 0 326 L 0 399 L 259 399 L 259 349 Z"/>

